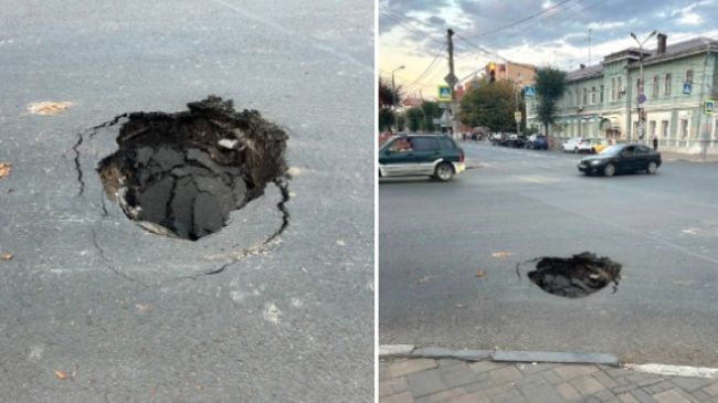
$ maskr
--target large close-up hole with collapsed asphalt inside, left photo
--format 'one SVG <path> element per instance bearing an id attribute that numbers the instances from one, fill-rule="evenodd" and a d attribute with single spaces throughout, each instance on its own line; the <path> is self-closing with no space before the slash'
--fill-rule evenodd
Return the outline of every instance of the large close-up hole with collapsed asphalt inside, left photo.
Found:
<path id="1" fill-rule="evenodd" d="M 196 241 L 286 173 L 287 135 L 217 96 L 179 113 L 122 115 L 119 150 L 97 168 L 105 193 L 144 229 Z"/>

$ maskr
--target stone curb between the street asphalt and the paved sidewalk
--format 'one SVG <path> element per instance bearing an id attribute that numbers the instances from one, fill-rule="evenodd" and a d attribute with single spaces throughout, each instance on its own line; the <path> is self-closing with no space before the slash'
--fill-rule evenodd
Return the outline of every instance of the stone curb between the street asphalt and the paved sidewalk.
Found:
<path id="1" fill-rule="evenodd" d="M 427 359 L 454 359 L 462 361 L 486 361 L 494 362 L 536 362 L 536 363 L 561 363 L 561 364 L 594 364 L 623 368 L 634 372 L 653 373 L 666 377 L 688 377 L 718 379 L 718 368 L 701 368 L 671 364 L 635 364 L 622 363 L 619 358 L 611 353 L 593 352 L 547 352 L 547 351 L 494 351 L 494 350 L 454 350 L 443 347 L 419 347 L 414 344 L 380 344 L 380 359 L 397 358 L 427 358 Z"/>

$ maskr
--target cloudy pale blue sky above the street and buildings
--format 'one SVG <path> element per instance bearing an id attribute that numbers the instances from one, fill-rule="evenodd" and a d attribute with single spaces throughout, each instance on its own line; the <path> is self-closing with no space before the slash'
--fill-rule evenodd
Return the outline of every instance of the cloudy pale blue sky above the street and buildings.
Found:
<path id="1" fill-rule="evenodd" d="M 631 32 L 644 40 L 657 30 L 668 45 L 718 40 L 718 0 L 379 0 L 378 12 L 379 75 L 390 79 L 403 65 L 395 84 L 426 99 L 448 74 L 448 28 L 460 79 L 503 60 L 564 71 L 594 65 L 637 47 Z M 655 36 L 644 47 L 655 50 Z"/>

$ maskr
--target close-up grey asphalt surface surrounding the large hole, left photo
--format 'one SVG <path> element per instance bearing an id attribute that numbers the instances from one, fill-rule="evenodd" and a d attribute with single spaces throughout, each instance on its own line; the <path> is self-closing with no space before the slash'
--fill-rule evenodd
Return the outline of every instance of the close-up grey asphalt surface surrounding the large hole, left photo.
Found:
<path id="1" fill-rule="evenodd" d="M 371 401 L 372 31 L 346 0 L 6 1 L 0 401 Z M 78 135 L 209 94 L 283 127 L 294 179 L 197 242 L 151 234 L 103 195 L 116 131 Z"/>

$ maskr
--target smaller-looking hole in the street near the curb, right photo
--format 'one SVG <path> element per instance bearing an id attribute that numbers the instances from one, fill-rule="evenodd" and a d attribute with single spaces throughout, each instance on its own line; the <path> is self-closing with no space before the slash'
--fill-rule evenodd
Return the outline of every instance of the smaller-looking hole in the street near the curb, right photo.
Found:
<path id="1" fill-rule="evenodd" d="M 529 272 L 531 283 L 542 290 L 567 298 L 593 294 L 613 283 L 613 291 L 621 279 L 621 264 L 608 257 L 583 252 L 568 258 L 540 257 L 536 271 Z"/>

